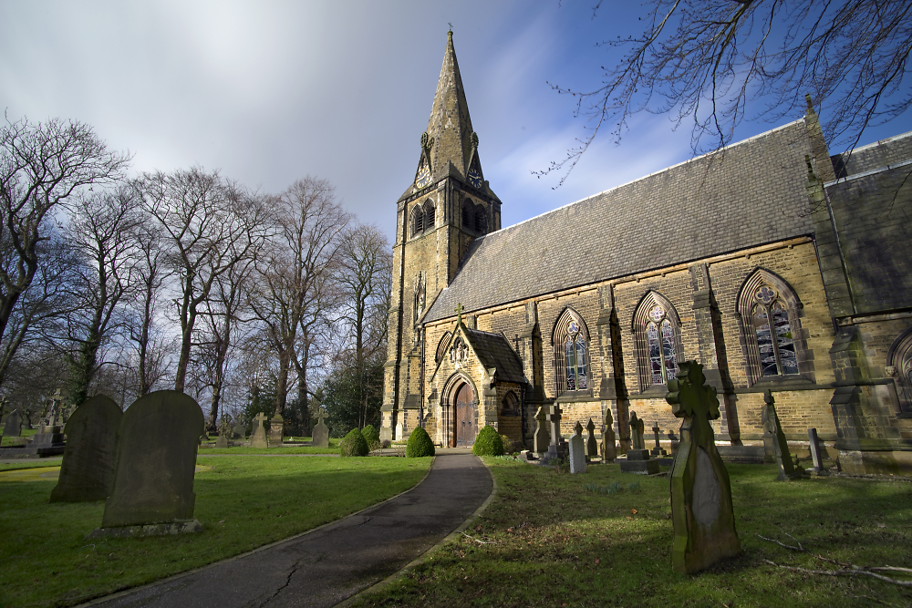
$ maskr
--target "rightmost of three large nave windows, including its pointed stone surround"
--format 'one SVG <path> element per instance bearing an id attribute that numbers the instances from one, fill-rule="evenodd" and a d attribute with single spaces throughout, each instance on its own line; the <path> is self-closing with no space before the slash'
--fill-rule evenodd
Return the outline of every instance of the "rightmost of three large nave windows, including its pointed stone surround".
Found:
<path id="1" fill-rule="evenodd" d="M 801 303 L 788 283 L 758 268 L 741 285 L 736 312 L 751 384 L 811 373 L 799 321 Z"/>

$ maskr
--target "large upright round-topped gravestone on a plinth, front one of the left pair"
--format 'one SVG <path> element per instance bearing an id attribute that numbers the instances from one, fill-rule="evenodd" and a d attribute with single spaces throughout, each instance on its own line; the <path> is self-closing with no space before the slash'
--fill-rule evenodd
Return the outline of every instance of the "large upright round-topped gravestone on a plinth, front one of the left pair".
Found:
<path id="1" fill-rule="evenodd" d="M 188 395 L 160 390 L 134 401 L 120 418 L 101 528 L 89 538 L 201 531 L 193 519 L 193 473 L 204 430 L 202 409 Z"/>

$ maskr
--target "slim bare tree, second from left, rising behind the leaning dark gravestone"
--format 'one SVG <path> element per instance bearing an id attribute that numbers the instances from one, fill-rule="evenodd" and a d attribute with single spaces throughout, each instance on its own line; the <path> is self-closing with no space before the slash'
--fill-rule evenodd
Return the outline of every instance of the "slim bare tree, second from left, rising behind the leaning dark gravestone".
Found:
<path id="1" fill-rule="evenodd" d="M 100 349 L 111 334 L 124 327 L 123 304 L 134 281 L 137 229 L 137 192 L 122 186 L 114 191 L 76 197 L 68 227 L 68 242 L 81 264 L 80 292 L 84 300 L 67 317 L 71 377 L 69 398 L 80 404 L 98 371 Z"/>

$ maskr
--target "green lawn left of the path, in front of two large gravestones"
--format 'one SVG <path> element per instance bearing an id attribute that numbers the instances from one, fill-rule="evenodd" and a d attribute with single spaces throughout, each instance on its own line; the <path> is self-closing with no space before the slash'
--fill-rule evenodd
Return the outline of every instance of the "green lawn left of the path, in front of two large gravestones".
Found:
<path id="1" fill-rule="evenodd" d="M 430 460 L 202 455 L 203 531 L 140 539 L 86 541 L 104 502 L 48 504 L 56 480 L 0 482 L 0 607 L 82 603 L 251 551 L 411 488 Z"/>

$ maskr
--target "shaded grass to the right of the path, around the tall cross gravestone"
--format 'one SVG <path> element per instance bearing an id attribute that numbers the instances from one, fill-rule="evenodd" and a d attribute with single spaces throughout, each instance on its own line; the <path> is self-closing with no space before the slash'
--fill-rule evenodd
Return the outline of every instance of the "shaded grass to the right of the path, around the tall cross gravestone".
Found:
<path id="1" fill-rule="evenodd" d="M 727 465 L 741 555 L 696 576 L 671 571 L 669 479 L 590 466 L 583 475 L 485 458 L 497 495 L 430 560 L 355 606 L 903 606 L 912 589 L 758 537 L 862 566 L 912 567 L 912 483 L 777 482 L 774 466 Z M 617 484 L 617 485 L 613 485 Z M 621 489 L 618 489 L 618 485 Z M 586 488 L 588 486 L 588 488 Z M 882 572 L 912 580 L 902 572 Z"/>

